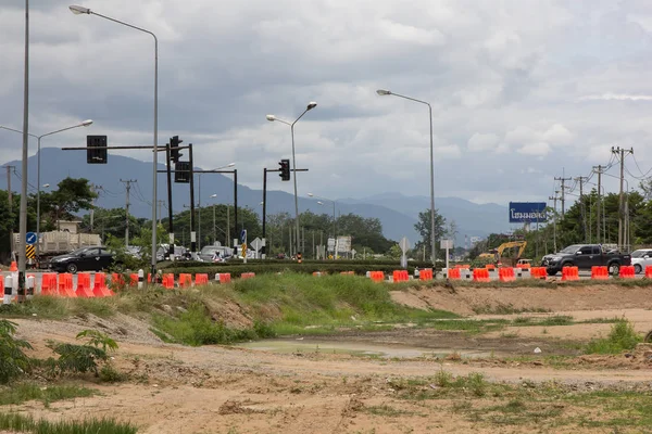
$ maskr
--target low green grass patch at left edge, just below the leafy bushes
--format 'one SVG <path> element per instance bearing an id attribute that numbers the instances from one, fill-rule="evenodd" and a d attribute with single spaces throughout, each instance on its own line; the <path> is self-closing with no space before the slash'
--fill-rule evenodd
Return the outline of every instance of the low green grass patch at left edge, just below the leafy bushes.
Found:
<path id="1" fill-rule="evenodd" d="M 57 400 L 88 397 L 98 393 L 96 390 L 77 385 L 41 386 L 34 383 L 17 383 L 0 388 L 0 406 L 18 405 L 28 400 L 39 400 L 47 405 Z"/>

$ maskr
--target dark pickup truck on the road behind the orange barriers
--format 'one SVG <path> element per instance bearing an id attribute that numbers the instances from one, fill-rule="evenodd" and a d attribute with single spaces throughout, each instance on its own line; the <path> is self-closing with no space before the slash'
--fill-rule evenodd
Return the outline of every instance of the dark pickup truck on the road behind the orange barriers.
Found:
<path id="1" fill-rule="evenodd" d="M 618 276 L 624 265 L 631 265 L 631 255 L 605 251 L 600 244 L 573 244 L 559 253 L 543 256 L 541 261 L 548 276 L 556 275 L 564 267 L 590 270 L 593 266 L 606 267 L 610 275 Z"/>

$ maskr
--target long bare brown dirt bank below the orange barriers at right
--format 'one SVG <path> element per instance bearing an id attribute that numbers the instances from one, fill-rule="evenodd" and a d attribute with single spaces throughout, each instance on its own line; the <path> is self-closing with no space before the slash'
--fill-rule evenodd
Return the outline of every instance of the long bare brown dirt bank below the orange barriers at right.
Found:
<path id="1" fill-rule="evenodd" d="M 650 289 L 613 284 L 550 288 L 434 286 L 392 291 L 396 303 L 459 315 L 652 308 Z"/>

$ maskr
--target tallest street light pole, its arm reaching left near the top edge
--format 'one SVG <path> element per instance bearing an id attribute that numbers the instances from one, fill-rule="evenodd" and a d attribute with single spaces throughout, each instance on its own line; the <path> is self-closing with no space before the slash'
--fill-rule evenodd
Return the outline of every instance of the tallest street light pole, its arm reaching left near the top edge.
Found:
<path id="1" fill-rule="evenodd" d="M 156 201 L 156 199 L 158 199 L 156 197 L 156 193 L 158 193 L 158 191 L 156 191 L 158 190 L 156 169 L 159 166 L 159 161 L 158 161 L 159 159 L 159 39 L 156 38 L 156 35 L 154 35 L 150 30 L 146 30 L 145 28 L 137 27 L 131 24 L 124 23 L 120 20 L 115 20 L 110 16 L 99 14 L 97 12 L 91 11 L 88 8 L 71 5 L 70 10 L 75 15 L 79 15 L 79 14 L 97 15 L 104 20 L 109 20 L 114 23 L 122 24 L 123 26 L 127 26 L 133 29 L 146 33 L 148 35 L 151 35 L 152 38 L 154 38 L 154 146 L 153 146 L 153 158 L 152 158 L 152 165 L 153 165 L 152 183 L 153 183 L 153 186 L 152 186 L 152 265 L 151 265 L 151 273 L 152 273 L 152 278 L 153 278 L 156 273 L 156 232 L 158 232 L 156 231 L 156 229 L 158 229 L 158 227 L 156 227 L 156 202 L 158 202 Z"/>

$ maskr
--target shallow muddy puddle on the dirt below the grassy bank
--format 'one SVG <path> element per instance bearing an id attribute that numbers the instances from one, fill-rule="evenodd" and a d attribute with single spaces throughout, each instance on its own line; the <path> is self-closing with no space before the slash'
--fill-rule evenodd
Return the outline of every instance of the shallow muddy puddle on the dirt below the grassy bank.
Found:
<path id="1" fill-rule="evenodd" d="M 491 354 L 478 350 L 447 349 L 447 348 L 422 348 L 412 346 L 387 346 L 377 344 L 365 344 L 361 342 L 328 342 L 311 341 L 303 339 L 265 340 L 247 342 L 236 346 L 258 349 L 263 352 L 292 354 L 292 353 L 327 353 L 327 354 L 351 354 L 356 356 L 369 356 L 380 358 L 416 358 L 439 357 L 443 358 L 452 353 L 457 353 L 462 358 L 490 357 Z"/>

